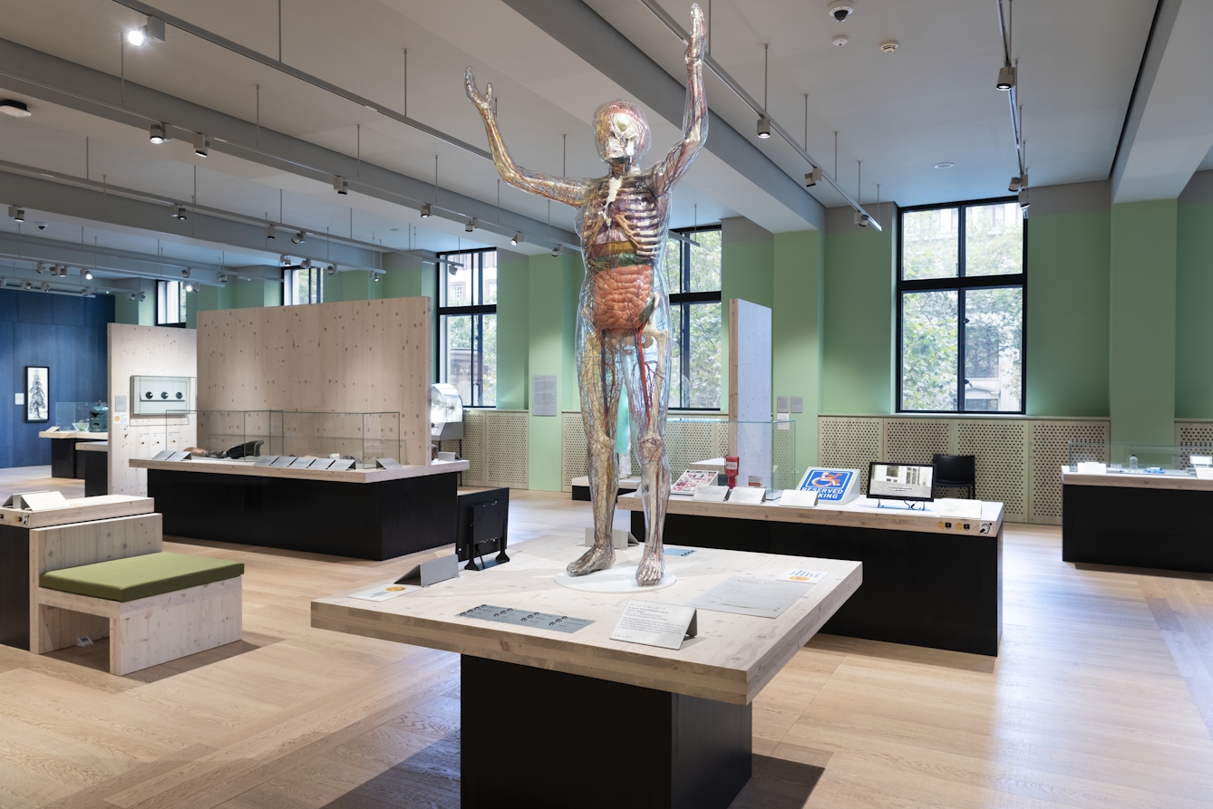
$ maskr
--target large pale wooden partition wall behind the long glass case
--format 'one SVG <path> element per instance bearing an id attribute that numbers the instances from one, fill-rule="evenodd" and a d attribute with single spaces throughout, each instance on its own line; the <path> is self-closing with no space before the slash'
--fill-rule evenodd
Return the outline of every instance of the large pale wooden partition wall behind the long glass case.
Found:
<path id="1" fill-rule="evenodd" d="M 429 462 L 431 300 L 198 313 L 198 409 L 400 414 L 402 463 Z"/>

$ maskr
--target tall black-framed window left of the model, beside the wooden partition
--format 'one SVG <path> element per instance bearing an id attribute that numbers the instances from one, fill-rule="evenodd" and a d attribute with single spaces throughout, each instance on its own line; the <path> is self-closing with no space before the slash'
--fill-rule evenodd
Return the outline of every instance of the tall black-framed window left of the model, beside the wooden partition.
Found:
<path id="1" fill-rule="evenodd" d="M 438 368 L 466 408 L 497 405 L 497 251 L 439 256 Z"/>

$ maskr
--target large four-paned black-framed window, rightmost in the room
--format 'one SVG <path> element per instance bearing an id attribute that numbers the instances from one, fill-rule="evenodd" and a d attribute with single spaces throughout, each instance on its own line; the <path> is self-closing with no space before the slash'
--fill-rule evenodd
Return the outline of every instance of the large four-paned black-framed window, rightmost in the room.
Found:
<path id="1" fill-rule="evenodd" d="M 1014 200 L 901 211 L 899 410 L 1024 412 L 1025 232 Z"/>

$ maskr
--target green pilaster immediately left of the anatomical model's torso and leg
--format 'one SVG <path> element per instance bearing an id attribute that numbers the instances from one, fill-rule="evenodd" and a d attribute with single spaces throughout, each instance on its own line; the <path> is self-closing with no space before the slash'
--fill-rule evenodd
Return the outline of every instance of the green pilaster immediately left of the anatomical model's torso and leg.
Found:
<path id="1" fill-rule="evenodd" d="M 557 376 L 558 410 L 580 409 L 573 326 L 583 269 L 579 253 L 531 256 L 528 279 L 526 380 Z M 501 342 L 497 343 L 500 355 Z M 528 483 L 541 491 L 560 490 L 560 417 L 530 416 Z"/>

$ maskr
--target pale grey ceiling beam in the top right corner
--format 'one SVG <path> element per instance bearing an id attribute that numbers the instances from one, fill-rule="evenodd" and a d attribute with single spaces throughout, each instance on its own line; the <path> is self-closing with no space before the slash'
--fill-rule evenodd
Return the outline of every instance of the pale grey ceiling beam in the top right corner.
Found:
<path id="1" fill-rule="evenodd" d="M 1112 201 L 1175 199 L 1213 148 L 1213 4 L 1158 0 L 1112 163 Z"/>

